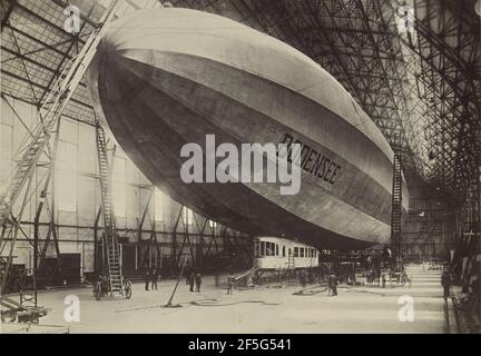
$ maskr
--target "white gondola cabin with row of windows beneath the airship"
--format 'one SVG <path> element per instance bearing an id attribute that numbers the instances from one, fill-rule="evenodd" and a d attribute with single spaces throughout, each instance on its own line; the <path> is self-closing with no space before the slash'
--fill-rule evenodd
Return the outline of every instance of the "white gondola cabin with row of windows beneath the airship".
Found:
<path id="1" fill-rule="evenodd" d="M 318 250 L 312 246 L 278 237 L 254 239 L 254 267 L 293 269 L 318 266 Z"/>

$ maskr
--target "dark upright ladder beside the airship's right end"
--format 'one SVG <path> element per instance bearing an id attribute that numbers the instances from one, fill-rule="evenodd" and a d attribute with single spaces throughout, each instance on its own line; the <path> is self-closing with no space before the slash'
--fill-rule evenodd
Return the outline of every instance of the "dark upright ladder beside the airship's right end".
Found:
<path id="1" fill-rule="evenodd" d="M 399 261 L 402 258 L 401 218 L 402 218 L 402 175 L 401 154 L 394 154 L 392 211 L 391 211 L 391 246 L 393 256 Z"/>

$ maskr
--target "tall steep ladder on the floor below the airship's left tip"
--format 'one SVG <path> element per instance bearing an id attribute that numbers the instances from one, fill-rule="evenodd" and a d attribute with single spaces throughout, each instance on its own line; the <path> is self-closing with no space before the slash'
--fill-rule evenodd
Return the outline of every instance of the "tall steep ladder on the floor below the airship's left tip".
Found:
<path id="1" fill-rule="evenodd" d="M 101 209 L 104 216 L 104 241 L 107 257 L 108 280 L 110 294 L 116 291 L 122 294 L 122 274 L 120 265 L 120 246 L 118 244 L 116 221 L 114 214 L 114 201 L 111 191 L 111 176 L 114 171 L 114 158 L 109 165 L 107 157 L 107 142 L 105 131 L 100 123 L 96 122 L 97 155 L 100 174 Z"/>

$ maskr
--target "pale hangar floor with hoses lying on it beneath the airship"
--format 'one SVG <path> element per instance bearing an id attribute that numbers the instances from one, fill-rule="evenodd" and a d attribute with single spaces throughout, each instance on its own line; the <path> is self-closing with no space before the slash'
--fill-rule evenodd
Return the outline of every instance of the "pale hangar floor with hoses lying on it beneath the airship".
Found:
<path id="1" fill-rule="evenodd" d="M 326 291 L 298 296 L 300 287 L 256 287 L 226 295 L 205 277 L 202 293 L 189 293 L 185 280 L 174 299 L 180 308 L 161 308 L 175 281 L 159 283 L 157 291 L 134 285 L 130 300 L 106 297 L 96 301 L 89 288 L 40 294 L 52 310 L 41 319 L 63 325 L 70 333 L 444 333 L 444 301 L 440 273 L 410 267 L 411 288 L 340 286 L 338 296 Z M 323 290 L 324 288 L 317 288 Z M 316 289 L 314 289 L 316 290 Z M 63 299 L 80 299 L 80 322 L 66 323 Z M 414 298 L 414 322 L 402 323 L 399 297 Z M 195 303 L 195 304 L 193 304 Z"/>

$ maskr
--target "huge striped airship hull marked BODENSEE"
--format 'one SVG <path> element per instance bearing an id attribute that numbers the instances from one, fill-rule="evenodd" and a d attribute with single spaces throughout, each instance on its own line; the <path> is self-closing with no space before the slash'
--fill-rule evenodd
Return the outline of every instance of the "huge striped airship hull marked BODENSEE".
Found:
<path id="1" fill-rule="evenodd" d="M 317 248 L 390 243 L 392 149 L 352 96 L 287 43 L 212 13 L 138 10 L 109 26 L 87 83 L 102 126 L 179 204 L 238 231 Z M 206 137 L 236 147 L 298 145 L 298 191 L 186 184 L 180 151 L 204 147 Z M 406 210 L 404 178 L 402 191 Z"/>

